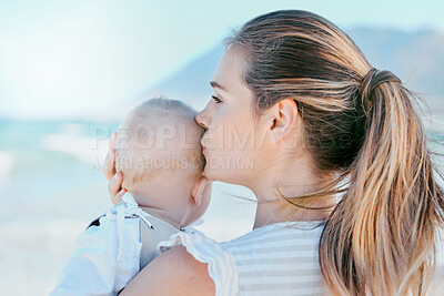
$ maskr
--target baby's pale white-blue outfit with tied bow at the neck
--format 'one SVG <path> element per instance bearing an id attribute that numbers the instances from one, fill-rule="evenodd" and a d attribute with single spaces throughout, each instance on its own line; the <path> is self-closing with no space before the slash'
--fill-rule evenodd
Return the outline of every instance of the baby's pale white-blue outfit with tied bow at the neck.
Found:
<path id="1" fill-rule="evenodd" d="M 51 296 L 117 295 L 179 229 L 143 212 L 130 193 L 79 235 Z M 196 232 L 188 228 L 189 232 Z"/>

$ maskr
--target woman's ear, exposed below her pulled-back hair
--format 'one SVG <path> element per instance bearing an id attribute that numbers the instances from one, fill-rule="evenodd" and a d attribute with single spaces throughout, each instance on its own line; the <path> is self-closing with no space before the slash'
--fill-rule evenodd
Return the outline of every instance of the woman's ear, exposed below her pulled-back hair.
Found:
<path id="1" fill-rule="evenodd" d="M 269 141 L 279 143 L 295 127 L 299 110 L 293 99 L 285 99 L 271 108 Z"/>

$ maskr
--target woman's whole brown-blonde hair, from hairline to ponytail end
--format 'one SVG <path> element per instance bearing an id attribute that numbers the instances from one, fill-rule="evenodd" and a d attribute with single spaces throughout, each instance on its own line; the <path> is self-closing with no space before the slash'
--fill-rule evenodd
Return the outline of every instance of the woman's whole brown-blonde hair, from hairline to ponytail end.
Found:
<path id="1" fill-rule="evenodd" d="M 310 207 L 343 194 L 319 246 L 330 290 L 424 294 L 444 201 L 414 95 L 392 72 L 374 69 L 342 30 L 311 12 L 260 16 L 228 44 L 245 55 L 256 114 L 294 99 L 316 169 L 339 176 L 319 192 L 285 197 Z"/>

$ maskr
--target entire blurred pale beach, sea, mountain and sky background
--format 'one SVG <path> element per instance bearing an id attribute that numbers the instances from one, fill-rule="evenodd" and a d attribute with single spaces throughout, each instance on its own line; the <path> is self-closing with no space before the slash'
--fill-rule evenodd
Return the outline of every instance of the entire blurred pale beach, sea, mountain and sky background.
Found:
<path id="1" fill-rule="evenodd" d="M 101 166 L 125 113 L 160 94 L 201 110 L 222 40 L 279 9 L 339 24 L 422 94 L 427 132 L 443 139 L 443 1 L 0 0 L 2 295 L 48 295 L 77 235 L 111 205 Z M 254 218 L 254 203 L 229 194 L 253 197 L 213 185 L 200 229 L 218 241 Z"/>

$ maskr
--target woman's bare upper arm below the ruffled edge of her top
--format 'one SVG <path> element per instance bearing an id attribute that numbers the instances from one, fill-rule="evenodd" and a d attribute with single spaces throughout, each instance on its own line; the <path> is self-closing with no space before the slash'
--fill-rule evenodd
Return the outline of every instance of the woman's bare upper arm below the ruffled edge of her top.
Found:
<path id="1" fill-rule="evenodd" d="M 200 263 L 185 247 L 172 248 L 153 259 L 120 295 L 214 295 L 208 264 Z"/>

